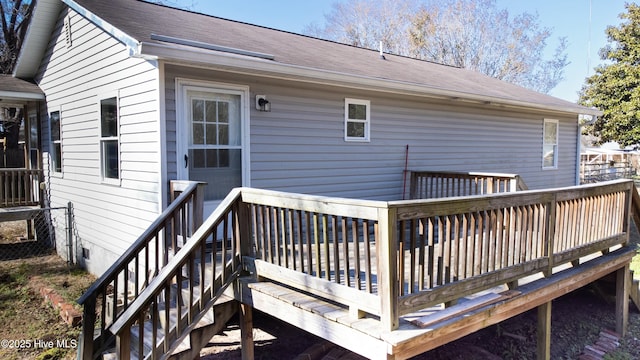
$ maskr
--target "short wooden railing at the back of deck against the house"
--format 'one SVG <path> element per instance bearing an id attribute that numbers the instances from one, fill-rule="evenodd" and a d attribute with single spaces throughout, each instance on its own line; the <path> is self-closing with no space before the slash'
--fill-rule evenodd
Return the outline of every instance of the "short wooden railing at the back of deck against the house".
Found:
<path id="1" fill-rule="evenodd" d="M 411 171 L 411 199 L 439 199 L 527 190 L 519 175 L 480 172 Z"/>

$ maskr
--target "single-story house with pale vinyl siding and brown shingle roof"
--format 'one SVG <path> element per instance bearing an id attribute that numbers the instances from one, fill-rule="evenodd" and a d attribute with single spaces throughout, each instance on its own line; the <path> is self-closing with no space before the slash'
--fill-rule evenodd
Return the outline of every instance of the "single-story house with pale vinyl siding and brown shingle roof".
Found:
<path id="1" fill-rule="evenodd" d="M 14 76 L 33 80 L 51 205 L 73 203 L 103 272 L 168 202 L 206 181 L 394 200 L 403 170 L 574 185 L 580 114 L 450 66 L 135 0 L 38 0 Z M 59 134 L 59 135 L 58 135 Z M 408 152 L 407 152 L 408 146 Z"/>

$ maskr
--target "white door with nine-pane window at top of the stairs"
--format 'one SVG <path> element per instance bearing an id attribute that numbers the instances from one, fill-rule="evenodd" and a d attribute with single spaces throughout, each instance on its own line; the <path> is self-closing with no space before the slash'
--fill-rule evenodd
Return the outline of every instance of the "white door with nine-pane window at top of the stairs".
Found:
<path id="1" fill-rule="evenodd" d="M 244 186 L 246 152 L 244 88 L 179 81 L 178 177 L 207 183 L 205 214 L 234 187 Z"/>

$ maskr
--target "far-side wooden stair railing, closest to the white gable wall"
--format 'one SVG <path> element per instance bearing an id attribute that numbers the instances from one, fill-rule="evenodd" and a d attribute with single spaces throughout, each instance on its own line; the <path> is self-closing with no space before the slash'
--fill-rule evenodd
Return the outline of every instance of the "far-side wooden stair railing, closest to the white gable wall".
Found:
<path id="1" fill-rule="evenodd" d="M 79 349 L 82 359 L 95 359 L 113 344 L 114 337 L 109 328 L 114 321 L 202 223 L 205 185 L 201 182 L 172 183 L 172 198 L 176 193 L 179 195 L 77 300 L 84 306 Z"/>

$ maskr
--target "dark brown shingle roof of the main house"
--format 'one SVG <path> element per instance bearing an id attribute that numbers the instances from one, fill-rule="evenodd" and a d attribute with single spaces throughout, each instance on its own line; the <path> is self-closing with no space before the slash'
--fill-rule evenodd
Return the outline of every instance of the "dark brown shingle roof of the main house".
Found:
<path id="1" fill-rule="evenodd" d="M 425 95 L 453 94 L 505 104 L 589 112 L 574 103 L 466 69 L 357 48 L 286 31 L 179 10 L 138 0 L 75 0 L 138 43 L 162 44 L 152 34 L 274 55 L 297 68 L 416 86 Z M 166 45 L 166 42 L 164 42 Z M 592 110 L 591 110 L 592 111 Z"/>

